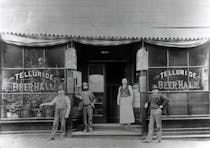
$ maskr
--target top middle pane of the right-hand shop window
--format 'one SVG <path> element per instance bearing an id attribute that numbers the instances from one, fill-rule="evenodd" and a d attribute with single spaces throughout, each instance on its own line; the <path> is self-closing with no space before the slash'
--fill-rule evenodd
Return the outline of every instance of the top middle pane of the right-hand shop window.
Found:
<path id="1" fill-rule="evenodd" d="M 170 66 L 187 66 L 187 50 L 186 49 L 169 49 L 169 65 Z"/>

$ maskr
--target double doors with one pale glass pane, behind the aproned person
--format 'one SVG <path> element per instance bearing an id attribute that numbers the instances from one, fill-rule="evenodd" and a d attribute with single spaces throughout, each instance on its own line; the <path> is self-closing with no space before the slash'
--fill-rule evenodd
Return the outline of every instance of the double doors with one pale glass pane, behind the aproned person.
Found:
<path id="1" fill-rule="evenodd" d="M 121 80 L 125 77 L 125 63 L 89 63 L 88 75 L 89 88 L 96 96 L 95 122 L 119 122 L 117 93 Z"/>

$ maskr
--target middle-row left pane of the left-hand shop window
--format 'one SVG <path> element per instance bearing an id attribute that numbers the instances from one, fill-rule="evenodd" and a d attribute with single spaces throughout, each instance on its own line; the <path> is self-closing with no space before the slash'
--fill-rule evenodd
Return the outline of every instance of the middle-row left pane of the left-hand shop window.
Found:
<path id="1" fill-rule="evenodd" d="M 23 92 L 24 73 L 23 70 L 2 71 L 3 92 Z"/>

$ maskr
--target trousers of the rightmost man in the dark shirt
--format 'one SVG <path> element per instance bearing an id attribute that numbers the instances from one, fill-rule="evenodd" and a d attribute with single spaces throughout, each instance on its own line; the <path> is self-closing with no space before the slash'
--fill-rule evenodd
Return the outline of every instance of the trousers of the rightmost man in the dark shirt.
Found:
<path id="1" fill-rule="evenodd" d="M 157 140 L 160 141 L 162 136 L 162 110 L 160 108 L 152 109 L 150 112 L 148 141 L 152 141 L 155 123 L 157 126 Z"/>

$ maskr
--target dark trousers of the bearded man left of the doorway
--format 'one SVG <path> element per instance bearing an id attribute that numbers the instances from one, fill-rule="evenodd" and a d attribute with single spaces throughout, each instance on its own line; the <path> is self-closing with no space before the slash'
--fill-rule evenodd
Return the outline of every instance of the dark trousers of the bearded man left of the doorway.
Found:
<path id="1" fill-rule="evenodd" d="M 93 108 L 91 105 L 84 105 L 83 110 L 83 123 L 85 126 L 85 129 L 93 128 Z"/>

